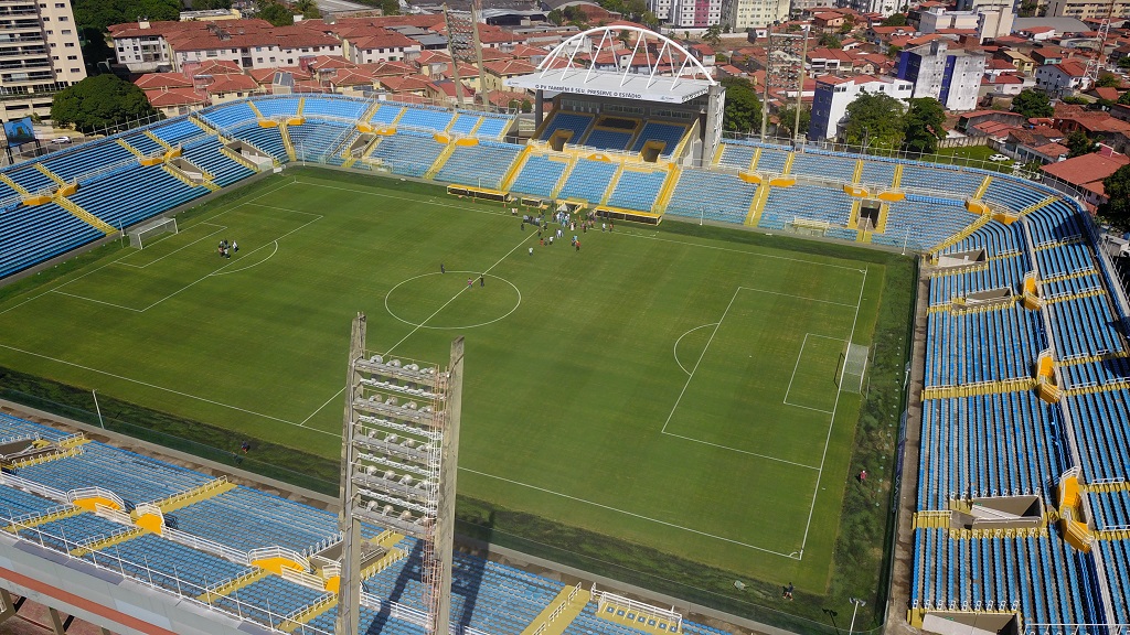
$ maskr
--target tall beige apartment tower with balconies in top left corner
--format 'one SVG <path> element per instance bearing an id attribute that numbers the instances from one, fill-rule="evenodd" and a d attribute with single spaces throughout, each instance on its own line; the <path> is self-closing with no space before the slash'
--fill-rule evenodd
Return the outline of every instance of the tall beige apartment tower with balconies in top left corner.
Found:
<path id="1" fill-rule="evenodd" d="M 50 118 L 54 93 L 86 78 L 70 0 L 7 0 L 0 55 L 0 119 Z"/>

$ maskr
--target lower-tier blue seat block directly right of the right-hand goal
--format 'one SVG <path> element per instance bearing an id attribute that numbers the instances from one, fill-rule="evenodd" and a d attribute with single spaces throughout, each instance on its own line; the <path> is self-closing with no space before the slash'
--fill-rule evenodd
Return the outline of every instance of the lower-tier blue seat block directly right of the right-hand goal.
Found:
<path id="1" fill-rule="evenodd" d="M 925 385 L 1031 377 L 1032 365 L 1048 347 L 1041 324 L 1040 314 L 1020 303 L 983 313 L 931 313 Z"/>

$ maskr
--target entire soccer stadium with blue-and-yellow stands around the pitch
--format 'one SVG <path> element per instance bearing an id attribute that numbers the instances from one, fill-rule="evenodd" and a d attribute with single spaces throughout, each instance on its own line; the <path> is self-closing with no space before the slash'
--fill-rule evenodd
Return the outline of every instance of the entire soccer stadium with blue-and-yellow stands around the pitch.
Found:
<path id="1" fill-rule="evenodd" d="M 0 172 L 2 615 L 1127 630 L 1130 308 L 1078 202 L 565 75 L 522 142 L 276 95 Z"/>

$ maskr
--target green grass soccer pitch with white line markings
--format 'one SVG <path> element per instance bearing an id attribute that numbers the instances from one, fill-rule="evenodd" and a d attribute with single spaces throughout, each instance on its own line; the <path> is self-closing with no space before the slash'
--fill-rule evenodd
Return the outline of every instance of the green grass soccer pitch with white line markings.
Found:
<path id="1" fill-rule="evenodd" d="M 508 209 L 402 190 L 251 185 L 7 298 L 0 364 L 337 458 L 357 311 L 380 353 L 466 336 L 461 493 L 825 591 L 860 407 L 837 376 L 884 266 L 628 225 L 540 246 Z"/>

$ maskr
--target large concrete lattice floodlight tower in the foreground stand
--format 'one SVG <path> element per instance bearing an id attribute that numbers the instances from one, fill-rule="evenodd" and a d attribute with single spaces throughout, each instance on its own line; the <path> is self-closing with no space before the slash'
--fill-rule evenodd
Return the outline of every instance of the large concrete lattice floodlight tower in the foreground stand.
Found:
<path id="1" fill-rule="evenodd" d="M 353 324 L 341 458 L 341 577 L 338 635 L 357 635 L 363 557 L 373 545 L 360 521 L 423 541 L 425 628 L 447 635 L 463 338 L 446 369 L 365 348 L 365 315 Z"/>

